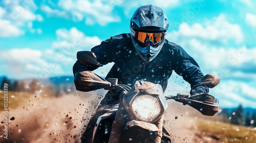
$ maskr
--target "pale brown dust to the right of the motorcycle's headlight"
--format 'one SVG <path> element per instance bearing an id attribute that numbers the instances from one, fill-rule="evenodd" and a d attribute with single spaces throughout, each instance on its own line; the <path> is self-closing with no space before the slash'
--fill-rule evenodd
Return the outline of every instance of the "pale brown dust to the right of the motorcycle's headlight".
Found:
<path id="1" fill-rule="evenodd" d="M 196 109 L 182 105 L 175 101 L 168 101 L 168 109 L 165 113 L 165 127 L 171 133 L 175 142 L 220 142 L 212 137 L 204 135 L 197 127 L 197 120 L 202 115 Z"/>

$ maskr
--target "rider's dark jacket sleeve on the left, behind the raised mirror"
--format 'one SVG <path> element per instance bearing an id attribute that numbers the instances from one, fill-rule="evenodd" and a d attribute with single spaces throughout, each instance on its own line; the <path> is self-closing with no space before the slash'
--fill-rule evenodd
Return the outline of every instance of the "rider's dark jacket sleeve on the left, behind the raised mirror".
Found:
<path id="1" fill-rule="evenodd" d="M 103 65 L 108 64 L 110 62 L 113 62 L 115 59 L 113 57 L 113 53 L 116 46 L 116 40 L 114 40 L 113 37 L 111 37 L 108 40 L 102 41 L 100 45 L 97 45 L 92 48 L 92 52 L 96 55 L 97 61 Z M 93 71 L 97 69 L 99 66 L 97 65 L 83 65 L 78 60 L 73 66 L 73 74 L 81 71 L 90 70 Z"/>

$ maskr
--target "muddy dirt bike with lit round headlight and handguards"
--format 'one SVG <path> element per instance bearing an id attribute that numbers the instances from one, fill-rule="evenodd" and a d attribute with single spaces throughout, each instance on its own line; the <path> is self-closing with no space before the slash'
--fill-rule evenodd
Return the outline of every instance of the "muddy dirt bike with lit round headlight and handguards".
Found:
<path id="1" fill-rule="evenodd" d="M 219 100 L 210 94 L 189 97 L 178 93 L 177 96 L 165 97 L 161 85 L 147 81 L 136 81 L 130 87 L 118 84 L 117 79 L 105 80 L 92 71 L 83 71 L 75 75 L 74 82 L 79 91 L 104 88 L 116 89 L 120 94 L 119 104 L 98 117 L 93 142 L 172 142 L 170 134 L 163 127 L 166 100 L 187 104 L 208 116 L 219 110 Z M 213 88 L 219 82 L 220 77 L 208 74 L 192 89 L 200 85 Z"/>

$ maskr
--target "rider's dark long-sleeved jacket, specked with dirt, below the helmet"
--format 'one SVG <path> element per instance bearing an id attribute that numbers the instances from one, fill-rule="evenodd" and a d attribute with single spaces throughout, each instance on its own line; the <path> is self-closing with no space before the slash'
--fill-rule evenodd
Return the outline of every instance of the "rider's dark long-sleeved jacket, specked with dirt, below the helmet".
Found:
<path id="1" fill-rule="evenodd" d="M 165 39 L 160 53 L 148 63 L 144 63 L 133 46 L 131 34 L 120 34 L 102 41 L 92 48 L 97 61 L 105 65 L 115 64 L 106 79 L 117 78 L 119 83 L 132 86 L 137 80 L 145 80 L 162 85 L 163 91 L 173 70 L 193 87 L 201 82 L 203 74 L 197 62 L 181 46 Z M 73 66 L 73 73 L 94 70 L 97 65 L 82 65 L 79 61 Z M 208 87 L 198 86 L 193 93 L 208 93 Z M 192 92 L 190 91 L 190 94 Z"/>

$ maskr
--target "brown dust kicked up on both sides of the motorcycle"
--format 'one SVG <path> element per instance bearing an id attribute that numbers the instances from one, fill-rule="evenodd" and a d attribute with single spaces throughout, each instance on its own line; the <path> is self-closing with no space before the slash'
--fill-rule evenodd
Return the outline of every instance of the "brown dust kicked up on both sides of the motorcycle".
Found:
<path id="1" fill-rule="evenodd" d="M 80 142 L 84 125 L 102 98 L 103 94 L 98 92 L 80 92 L 79 96 L 26 99 L 24 104 L 9 112 L 9 119 L 14 117 L 14 120 L 9 120 L 8 139 L 3 138 L 4 124 L 0 124 L 0 142 Z M 191 109 L 179 103 L 168 103 L 164 121 L 173 142 L 207 142 L 196 135 L 195 116 L 200 113 Z M 3 116 L 0 120 L 4 121 Z"/>

